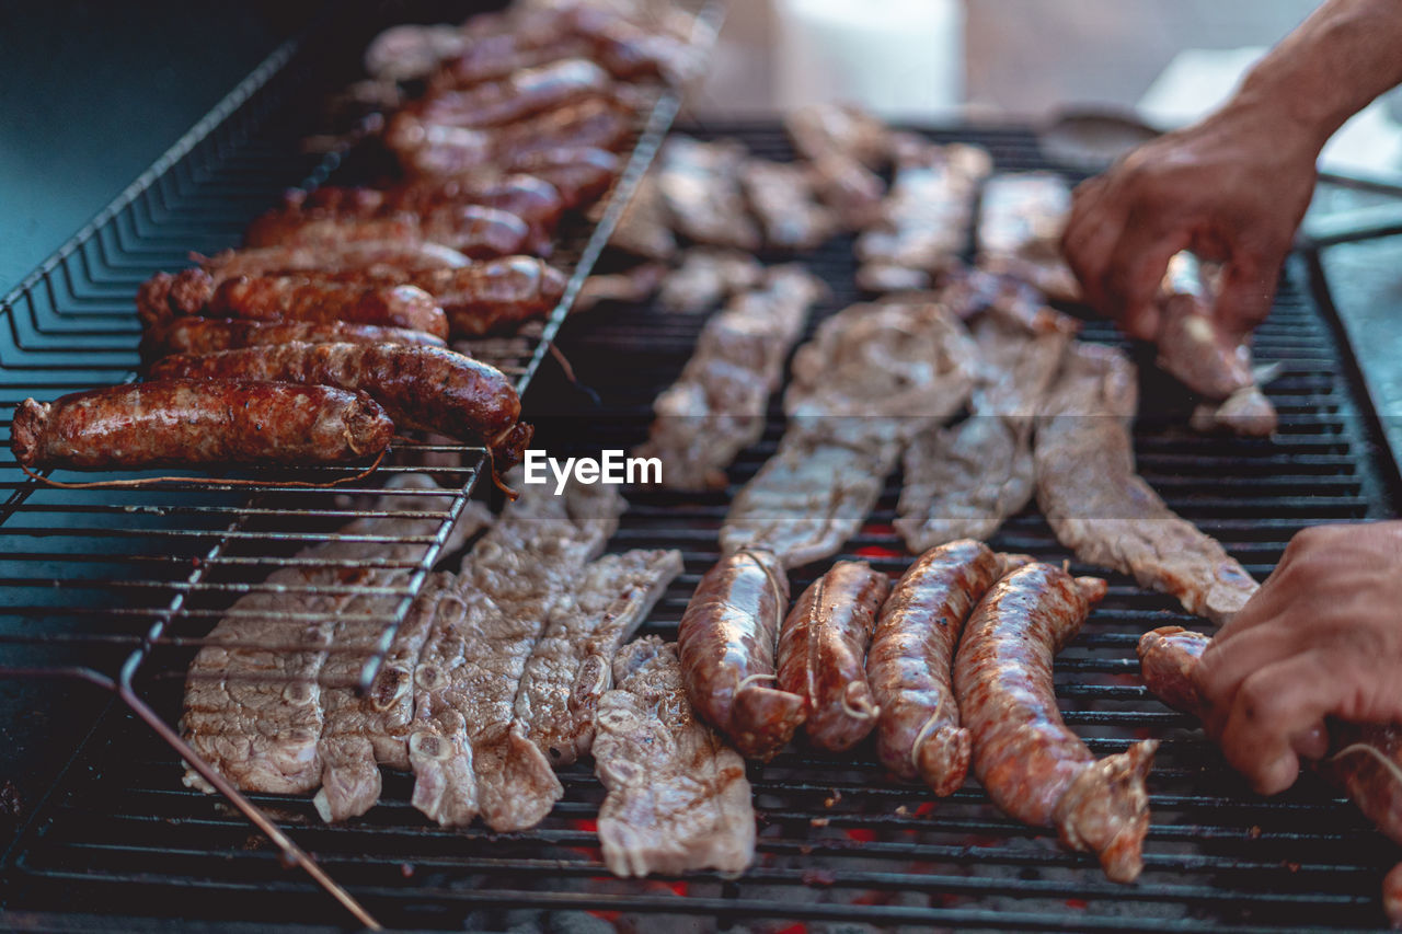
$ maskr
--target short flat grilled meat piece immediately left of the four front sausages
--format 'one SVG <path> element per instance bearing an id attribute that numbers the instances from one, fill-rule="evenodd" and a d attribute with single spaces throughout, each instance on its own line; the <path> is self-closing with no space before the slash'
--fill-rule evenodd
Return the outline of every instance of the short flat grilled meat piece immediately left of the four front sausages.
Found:
<path id="1" fill-rule="evenodd" d="M 656 637 L 614 659 L 599 701 L 599 841 L 614 875 L 743 872 L 754 861 L 744 760 L 697 717 L 677 651 Z"/>

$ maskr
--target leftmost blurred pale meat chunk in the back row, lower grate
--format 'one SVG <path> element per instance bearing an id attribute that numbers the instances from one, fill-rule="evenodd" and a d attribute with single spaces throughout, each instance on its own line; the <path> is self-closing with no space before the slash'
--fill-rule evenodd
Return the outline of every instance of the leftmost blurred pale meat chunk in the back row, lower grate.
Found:
<path id="1" fill-rule="evenodd" d="M 744 146 L 736 142 L 667 137 L 658 153 L 658 187 L 674 230 L 715 247 L 749 252 L 760 248 L 760 230 L 746 213 L 740 192 L 744 157 Z"/>

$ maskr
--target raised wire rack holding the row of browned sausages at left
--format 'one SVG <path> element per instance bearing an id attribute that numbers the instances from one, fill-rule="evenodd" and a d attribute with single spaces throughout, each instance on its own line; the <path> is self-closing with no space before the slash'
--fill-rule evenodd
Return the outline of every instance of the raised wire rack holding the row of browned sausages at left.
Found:
<path id="1" fill-rule="evenodd" d="M 701 8 L 698 39 L 718 28 L 719 4 Z M 349 142 L 303 154 L 300 140 L 321 105 L 317 74 L 324 49 L 289 41 L 181 137 L 111 205 L 0 299 L 0 424 L 39 400 L 132 381 L 140 359 L 133 295 L 161 269 L 236 245 L 247 223 L 289 185 L 314 188 L 338 178 Z M 317 80 L 313 80 L 317 79 Z M 639 111 L 622 172 L 597 220 L 566 222 L 551 262 L 568 275 L 544 321 L 515 335 L 474 341 L 474 356 L 515 379 L 524 393 L 550 353 L 579 287 L 604 248 L 634 187 L 670 126 L 680 98 L 658 90 Z M 355 136 L 355 135 L 352 135 Z M 348 137 L 349 140 L 350 137 Z M 143 697 L 161 675 L 153 654 L 192 652 L 237 597 L 374 597 L 349 616 L 381 627 L 379 648 L 359 666 L 355 686 L 376 677 L 398 625 L 429 571 L 444 557 L 450 532 L 488 452 L 457 443 L 397 443 L 393 461 L 366 477 L 365 464 L 248 468 L 215 477 L 163 480 L 136 488 L 62 489 L 27 477 L 6 446 L 0 454 L 0 644 L 10 663 L 0 677 L 79 679 L 119 697 L 280 850 L 362 924 L 374 919 L 336 885 L 276 822 L 203 763 Z M 49 471 L 41 471 L 49 473 Z M 151 478 L 168 471 L 108 473 L 101 480 Z M 437 485 L 397 488 L 386 481 L 426 474 Z M 52 471 L 53 480 L 91 475 Z M 408 505 L 405 505 L 408 502 Z M 388 505 L 394 503 L 394 505 Z M 348 523 L 355 523 L 348 526 Z M 414 533 L 402 532 L 414 523 Z M 394 546 L 388 557 L 327 554 L 327 546 Z M 358 583 L 269 582 L 279 568 L 372 569 Z M 233 607 L 230 604 L 234 604 Z M 268 647 L 276 648 L 276 647 Z M 335 652 L 335 647 L 331 648 Z"/>

